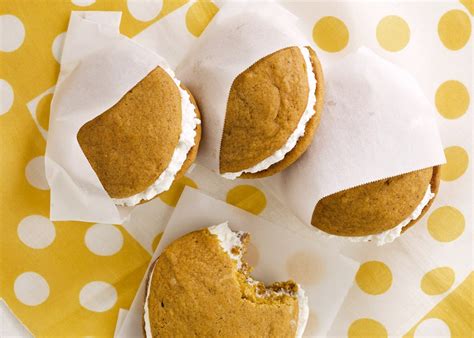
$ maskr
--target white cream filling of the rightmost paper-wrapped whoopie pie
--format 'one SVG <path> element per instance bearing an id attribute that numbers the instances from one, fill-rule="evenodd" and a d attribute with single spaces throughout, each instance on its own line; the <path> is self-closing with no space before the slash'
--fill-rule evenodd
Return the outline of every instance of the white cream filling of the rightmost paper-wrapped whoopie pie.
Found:
<path id="1" fill-rule="evenodd" d="M 411 221 L 416 220 L 418 217 L 420 217 L 421 213 L 423 212 L 423 209 L 428 205 L 430 200 L 435 196 L 434 193 L 431 192 L 431 184 L 428 185 L 428 189 L 425 192 L 425 195 L 423 196 L 423 199 L 421 200 L 420 204 L 413 210 L 413 212 L 408 216 L 406 219 L 404 219 L 400 224 L 398 224 L 396 227 L 386 230 L 384 232 L 381 232 L 379 234 L 374 234 L 374 235 L 368 235 L 368 236 L 336 236 L 332 234 L 328 234 L 327 232 L 321 231 L 317 228 L 314 228 L 318 233 L 325 237 L 342 237 L 344 239 L 347 239 L 351 242 L 369 242 L 373 241 L 377 244 L 377 246 L 382 246 L 387 243 L 393 242 L 396 238 L 400 237 L 402 230 L 404 227 L 406 227 Z"/>

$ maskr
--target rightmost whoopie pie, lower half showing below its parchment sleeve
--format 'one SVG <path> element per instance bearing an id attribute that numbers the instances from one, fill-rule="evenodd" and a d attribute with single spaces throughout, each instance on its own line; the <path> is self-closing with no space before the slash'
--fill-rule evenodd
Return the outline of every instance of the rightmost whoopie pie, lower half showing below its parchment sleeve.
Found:
<path id="1" fill-rule="evenodd" d="M 312 225 L 353 241 L 392 242 L 431 207 L 440 168 L 426 168 L 338 192 L 316 205 Z"/>

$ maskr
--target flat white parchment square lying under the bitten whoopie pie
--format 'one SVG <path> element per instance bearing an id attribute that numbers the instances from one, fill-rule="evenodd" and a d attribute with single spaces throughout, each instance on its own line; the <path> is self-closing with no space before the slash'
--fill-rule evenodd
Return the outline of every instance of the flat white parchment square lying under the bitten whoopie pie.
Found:
<path id="1" fill-rule="evenodd" d="M 212 210 L 212 212 L 209 212 Z M 324 245 L 291 232 L 279 224 L 272 224 L 198 190 L 186 188 L 163 233 L 151 263 L 172 241 L 202 228 L 229 221 L 232 230 L 250 233 L 251 244 L 258 249 L 259 262 L 252 276 L 267 284 L 290 278 L 301 283 L 309 299 L 310 314 L 317 318 L 317 334 L 329 330 L 342 302 L 351 287 L 358 263 Z M 298 257 L 310 257 L 318 265 L 317 281 L 298 281 L 291 275 L 289 265 L 298 264 Z M 151 264 L 150 263 L 150 264 Z M 303 267 L 300 267 L 303 268 Z M 288 271 L 290 270 L 290 271 Z M 137 295 L 116 337 L 143 336 L 143 306 L 146 279 L 142 280 Z"/>

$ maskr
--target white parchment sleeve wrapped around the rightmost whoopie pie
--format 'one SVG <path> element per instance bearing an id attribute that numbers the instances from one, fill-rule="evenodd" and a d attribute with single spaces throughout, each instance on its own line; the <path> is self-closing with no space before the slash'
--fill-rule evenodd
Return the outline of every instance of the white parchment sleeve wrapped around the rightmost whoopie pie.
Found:
<path id="1" fill-rule="evenodd" d="M 325 196 L 445 162 L 434 108 L 404 69 L 360 48 L 326 69 L 325 86 L 312 145 L 266 180 L 303 222 Z"/>

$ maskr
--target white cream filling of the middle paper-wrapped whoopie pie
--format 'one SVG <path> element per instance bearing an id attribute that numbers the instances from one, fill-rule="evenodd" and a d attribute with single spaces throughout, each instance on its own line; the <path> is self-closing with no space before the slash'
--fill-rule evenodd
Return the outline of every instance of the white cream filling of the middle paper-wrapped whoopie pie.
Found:
<path id="1" fill-rule="evenodd" d="M 316 104 L 316 74 L 314 74 L 314 71 L 313 71 L 313 65 L 311 64 L 309 50 L 306 47 L 299 47 L 299 49 L 301 50 L 301 54 L 303 54 L 303 58 L 306 64 L 306 70 L 308 74 L 309 94 L 308 94 L 308 103 L 306 105 L 306 109 L 303 115 L 301 115 L 300 121 L 298 122 L 296 129 L 290 135 L 290 137 L 288 138 L 286 143 L 283 145 L 283 147 L 278 149 L 271 156 L 257 163 L 253 167 L 244 169 L 242 171 L 223 173 L 221 174 L 223 177 L 229 180 L 234 180 L 240 175 L 242 175 L 243 173 L 256 173 L 256 172 L 268 169 L 273 164 L 283 160 L 286 154 L 289 153 L 296 146 L 296 143 L 298 142 L 299 138 L 304 135 L 306 124 L 311 119 L 311 117 L 313 117 L 313 115 L 316 113 L 314 109 L 314 105 Z"/>

